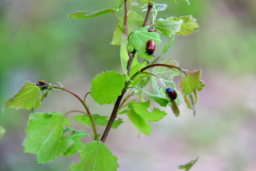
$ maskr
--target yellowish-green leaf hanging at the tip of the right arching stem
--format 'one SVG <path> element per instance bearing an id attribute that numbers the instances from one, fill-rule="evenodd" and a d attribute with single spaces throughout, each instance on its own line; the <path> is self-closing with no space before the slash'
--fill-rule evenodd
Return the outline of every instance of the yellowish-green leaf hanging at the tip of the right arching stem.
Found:
<path id="1" fill-rule="evenodd" d="M 191 71 L 187 76 L 182 78 L 181 87 L 182 91 L 186 94 L 191 94 L 199 86 L 202 70 Z"/>

